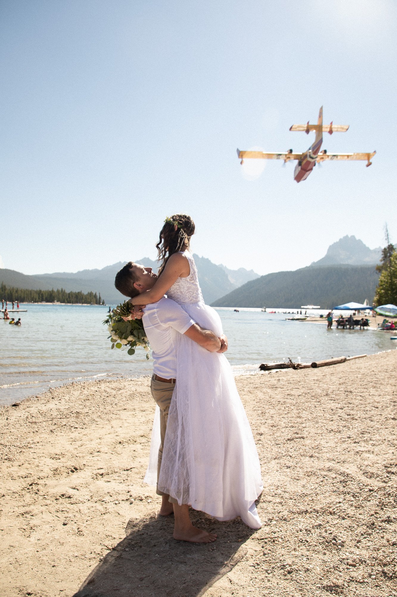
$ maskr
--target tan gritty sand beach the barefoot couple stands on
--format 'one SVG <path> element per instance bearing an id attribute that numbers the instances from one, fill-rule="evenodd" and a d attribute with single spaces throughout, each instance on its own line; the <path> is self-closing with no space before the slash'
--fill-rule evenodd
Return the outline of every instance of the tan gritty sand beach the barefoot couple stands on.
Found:
<path id="1" fill-rule="evenodd" d="M 0 410 L 2 597 L 397 595 L 397 352 L 237 378 L 265 485 L 259 531 L 178 543 L 143 483 L 149 378 Z"/>

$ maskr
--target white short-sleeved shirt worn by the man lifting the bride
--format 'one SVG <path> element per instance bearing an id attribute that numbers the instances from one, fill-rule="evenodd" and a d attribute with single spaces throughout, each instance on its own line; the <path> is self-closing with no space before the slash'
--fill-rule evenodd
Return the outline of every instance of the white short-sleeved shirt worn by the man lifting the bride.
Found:
<path id="1" fill-rule="evenodd" d="M 196 322 L 171 298 L 148 304 L 142 316 L 153 356 L 153 372 L 165 379 L 176 378 L 176 341 Z"/>

